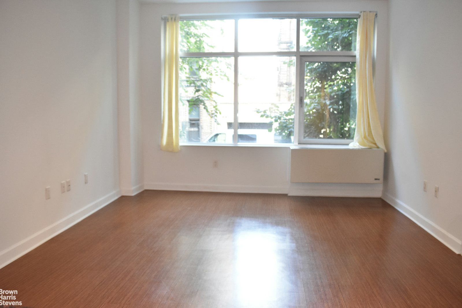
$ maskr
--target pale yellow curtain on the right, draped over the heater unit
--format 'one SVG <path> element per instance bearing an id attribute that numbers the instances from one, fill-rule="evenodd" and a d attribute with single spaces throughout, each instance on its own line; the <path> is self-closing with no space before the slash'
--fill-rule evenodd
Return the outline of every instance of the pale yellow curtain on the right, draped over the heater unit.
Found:
<path id="1" fill-rule="evenodd" d="M 382 148 L 385 152 L 382 127 L 372 78 L 375 12 L 362 12 L 358 20 L 356 52 L 356 131 L 350 147 Z"/>

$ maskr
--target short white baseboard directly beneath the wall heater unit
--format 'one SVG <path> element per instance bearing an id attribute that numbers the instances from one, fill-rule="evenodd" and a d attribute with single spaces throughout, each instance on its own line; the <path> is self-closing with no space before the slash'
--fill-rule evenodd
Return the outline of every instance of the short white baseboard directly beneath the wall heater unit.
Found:
<path id="1" fill-rule="evenodd" d="M 291 183 L 289 196 L 382 197 L 382 184 Z"/>

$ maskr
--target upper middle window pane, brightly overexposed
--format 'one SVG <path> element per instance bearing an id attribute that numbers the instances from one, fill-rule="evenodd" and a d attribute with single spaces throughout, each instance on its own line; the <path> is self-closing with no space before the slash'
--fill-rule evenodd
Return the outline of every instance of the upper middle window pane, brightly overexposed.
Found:
<path id="1" fill-rule="evenodd" d="M 292 19 L 239 19 L 240 52 L 294 51 L 297 21 Z"/>

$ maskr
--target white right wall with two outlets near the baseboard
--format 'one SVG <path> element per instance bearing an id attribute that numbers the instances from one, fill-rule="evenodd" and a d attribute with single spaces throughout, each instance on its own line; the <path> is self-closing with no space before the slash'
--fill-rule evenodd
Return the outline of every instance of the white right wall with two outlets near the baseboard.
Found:
<path id="1" fill-rule="evenodd" d="M 461 13 L 460 0 L 389 0 L 384 133 L 389 149 L 384 199 L 457 253 L 462 239 Z"/>

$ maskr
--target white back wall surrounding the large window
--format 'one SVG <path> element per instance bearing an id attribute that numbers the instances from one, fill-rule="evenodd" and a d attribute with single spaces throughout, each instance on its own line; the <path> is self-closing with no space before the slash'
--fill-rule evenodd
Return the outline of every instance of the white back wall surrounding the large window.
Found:
<path id="1" fill-rule="evenodd" d="M 160 151 L 161 134 L 161 18 L 168 14 L 238 14 L 259 12 L 360 12 L 377 11 L 377 104 L 381 119 L 385 100 L 388 42 L 387 2 L 272 1 L 207 4 L 143 4 L 140 8 L 140 98 L 143 109 L 144 179 L 150 189 L 188 189 L 236 192 L 289 192 L 287 147 L 182 146 L 179 153 Z M 218 168 L 213 161 L 218 160 Z M 379 185 L 377 190 L 377 185 Z M 362 195 L 380 196 L 381 184 L 359 187 Z M 297 187 L 298 193 L 322 191 L 341 195 L 351 186 L 329 184 Z M 354 187 L 357 189 L 358 187 Z M 359 191 L 357 190 L 357 191 Z M 378 194 L 377 194 L 378 192 Z"/>

